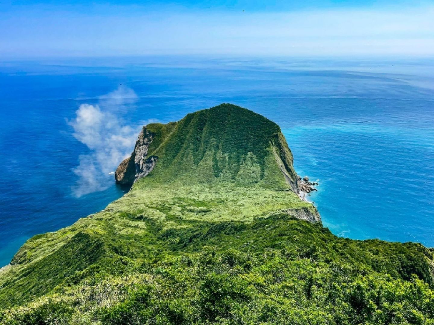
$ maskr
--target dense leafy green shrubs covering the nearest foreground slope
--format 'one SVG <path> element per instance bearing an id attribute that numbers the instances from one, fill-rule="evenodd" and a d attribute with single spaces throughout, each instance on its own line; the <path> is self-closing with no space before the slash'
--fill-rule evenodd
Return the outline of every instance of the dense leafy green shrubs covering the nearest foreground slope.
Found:
<path id="1" fill-rule="evenodd" d="M 419 244 L 337 238 L 286 215 L 178 227 L 124 218 L 147 230 L 108 235 L 97 263 L 4 312 L 3 322 L 428 324 L 434 317 L 432 252 Z"/>

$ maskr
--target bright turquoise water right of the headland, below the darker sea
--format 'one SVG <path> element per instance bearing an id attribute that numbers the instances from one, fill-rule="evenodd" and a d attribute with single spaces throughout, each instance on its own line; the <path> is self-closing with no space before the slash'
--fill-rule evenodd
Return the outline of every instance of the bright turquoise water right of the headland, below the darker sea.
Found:
<path id="1" fill-rule="evenodd" d="M 334 234 L 432 245 L 432 130 L 349 123 L 284 133 L 296 170 L 319 179 L 309 199 Z"/>

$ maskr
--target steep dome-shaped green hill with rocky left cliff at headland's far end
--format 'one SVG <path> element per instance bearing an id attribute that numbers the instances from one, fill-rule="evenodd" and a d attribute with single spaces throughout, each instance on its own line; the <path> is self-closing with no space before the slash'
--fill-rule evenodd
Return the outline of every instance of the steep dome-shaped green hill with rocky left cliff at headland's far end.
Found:
<path id="1" fill-rule="evenodd" d="M 232 104 L 188 114 L 179 122 L 148 124 L 115 177 L 132 184 L 155 166 L 151 177 L 163 182 L 261 183 L 297 190 L 293 156 L 279 126 Z"/>

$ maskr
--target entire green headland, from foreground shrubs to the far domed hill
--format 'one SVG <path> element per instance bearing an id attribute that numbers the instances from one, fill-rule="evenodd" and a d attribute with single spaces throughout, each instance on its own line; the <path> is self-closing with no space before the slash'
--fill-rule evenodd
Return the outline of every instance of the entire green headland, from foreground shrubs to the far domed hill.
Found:
<path id="1" fill-rule="evenodd" d="M 316 209 L 264 117 L 222 104 L 150 124 L 122 164 L 128 194 L 0 271 L 1 323 L 434 323 L 433 251 L 299 220 Z"/>

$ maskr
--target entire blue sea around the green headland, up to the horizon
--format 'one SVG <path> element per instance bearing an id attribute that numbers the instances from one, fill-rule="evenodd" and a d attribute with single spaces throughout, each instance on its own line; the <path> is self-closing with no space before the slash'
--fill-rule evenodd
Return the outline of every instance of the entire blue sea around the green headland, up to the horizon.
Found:
<path id="1" fill-rule="evenodd" d="M 434 61 L 145 57 L 0 62 L 0 266 L 125 193 L 141 125 L 230 102 L 278 123 L 343 237 L 434 247 Z"/>

